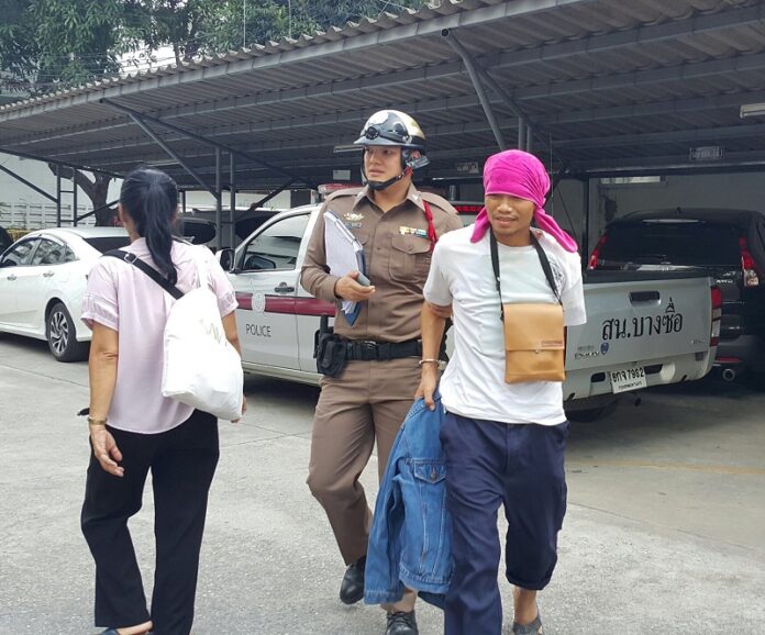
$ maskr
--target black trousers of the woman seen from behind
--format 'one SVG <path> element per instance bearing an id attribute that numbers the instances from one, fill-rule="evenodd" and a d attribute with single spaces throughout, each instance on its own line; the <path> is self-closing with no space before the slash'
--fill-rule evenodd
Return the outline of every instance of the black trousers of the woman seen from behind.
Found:
<path id="1" fill-rule="evenodd" d="M 122 452 L 115 477 L 90 455 L 81 527 L 96 560 L 96 625 L 152 620 L 155 635 L 188 635 L 193 622 L 208 492 L 219 457 L 218 421 L 195 411 L 160 434 L 109 428 Z M 151 614 L 127 520 L 142 505 L 148 470 L 154 489 L 156 566 Z"/>

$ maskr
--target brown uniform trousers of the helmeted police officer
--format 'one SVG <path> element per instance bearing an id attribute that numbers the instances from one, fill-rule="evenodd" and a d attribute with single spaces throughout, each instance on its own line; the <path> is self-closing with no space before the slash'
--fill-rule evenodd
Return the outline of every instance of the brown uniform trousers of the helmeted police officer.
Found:
<path id="1" fill-rule="evenodd" d="M 348 361 L 322 379 L 313 420 L 308 486 L 324 508 L 346 565 L 366 555 L 372 524 L 358 477 L 377 442 L 381 479 L 420 385 L 418 357 Z"/>

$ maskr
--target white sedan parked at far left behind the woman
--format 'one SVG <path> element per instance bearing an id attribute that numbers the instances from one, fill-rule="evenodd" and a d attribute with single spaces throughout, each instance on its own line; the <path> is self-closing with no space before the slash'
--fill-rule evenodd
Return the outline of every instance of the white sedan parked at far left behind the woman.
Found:
<path id="1" fill-rule="evenodd" d="M 57 227 L 13 243 L 0 256 L 0 331 L 46 339 L 59 361 L 85 359 L 88 274 L 102 253 L 129 242 L 122 227 Z"/>

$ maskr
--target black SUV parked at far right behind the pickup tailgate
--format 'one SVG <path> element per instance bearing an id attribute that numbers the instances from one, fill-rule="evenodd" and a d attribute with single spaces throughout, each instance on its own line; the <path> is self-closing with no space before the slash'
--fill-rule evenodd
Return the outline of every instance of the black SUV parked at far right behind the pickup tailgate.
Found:
<path id="1" fill-rule="evenodd" d="M 765 214 L 746 210 L 652 210 L 606 227 L 590 269 L 701 269 L 722 291 L 716 365 L 732 380 L 765 372 Z"/>

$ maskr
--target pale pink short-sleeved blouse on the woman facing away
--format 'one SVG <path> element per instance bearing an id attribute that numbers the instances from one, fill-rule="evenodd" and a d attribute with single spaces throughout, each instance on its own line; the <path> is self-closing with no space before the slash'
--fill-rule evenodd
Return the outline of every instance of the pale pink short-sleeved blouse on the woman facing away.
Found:
<path id="1" fill-rule="evenodd" d="M 124 249 L 155 267 L 145 238 Z M 176 286 L 188 292 L 196 285 L 195 257 L 207 266 L 221 315 L 228 315 L 236 309 L 234 289 L 207 247 L 173 243 L 171 258 L 178 271 Z M 88 326 L 98 322 L 113 328 L 120 342 L 109 425 L 157 434 L 180 425 L 193 412 L 191 406 L 160 392 L 163 333 L 174 303 L 173 297 L 146 274 L 118 258 L 100 258 L 90 270 L 82 299 L 82 321 Z"/>

